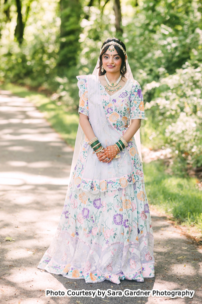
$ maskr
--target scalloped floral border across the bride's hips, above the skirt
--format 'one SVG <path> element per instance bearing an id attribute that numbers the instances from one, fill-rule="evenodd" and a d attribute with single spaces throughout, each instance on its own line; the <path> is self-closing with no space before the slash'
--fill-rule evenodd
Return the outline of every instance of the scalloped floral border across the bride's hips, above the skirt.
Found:
<path id="1" fill-rule="evenodd" d="M 113 191 L 120 188 L 126 188 L 129 184 L 141 181 L 142 179 L 144 179 L 144 173 L 141 170 L 136 170 L 121 177 L 103 180 L 81 178 L 78 175 L 74 175 L 73 183 L 77 189 L 81 189 L 85 192 L 90 191 L 91 193 L 97 193 L 106 192 L 107 190 Z"/>

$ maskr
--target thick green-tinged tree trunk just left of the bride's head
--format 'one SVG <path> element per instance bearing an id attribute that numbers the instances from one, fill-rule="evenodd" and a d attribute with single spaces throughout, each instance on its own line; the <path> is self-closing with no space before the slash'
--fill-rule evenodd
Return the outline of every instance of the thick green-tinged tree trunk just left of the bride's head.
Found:
<path id="1" fill-rule="evenodd" d="M 60 49 L 57 66 L 58 73 L 71 75 L 74 68 L 76 71 L 77 58 L 80 52 L 81 33 L 80 14 L 81 4 L 79 0 L 60 0 L 61 25 L 60 25 Z M 69 70 L 69 68 L 71 70 Z"/>

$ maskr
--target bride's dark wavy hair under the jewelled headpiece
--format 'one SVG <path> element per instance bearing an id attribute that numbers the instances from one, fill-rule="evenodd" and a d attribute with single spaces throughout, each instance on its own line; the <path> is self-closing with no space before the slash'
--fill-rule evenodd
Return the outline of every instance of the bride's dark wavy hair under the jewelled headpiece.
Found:
<path id="1" fill-rule="evenodd" d="M 117 38 L 107 38 L 107 40 L 105 40 L 105 41 L 103 42 L 102 47 L 103 47 L 106 43 L 108 43 L 108 42 L 110 42 L 110 41 L 118 42 L 118 43 L 121 44 L 121 46 L 123 46 L 123 48 L 126 50 L 125 44 L 124 44 L 121 40 L 119 40 L 119 39 L 117 39 Z M 101 48 L 102 48 L 102 47 L 101 47 Z M 104 53 L 106 53 L 108 47 L 109 47 L 109 44 L 106 45 L 106 46 L 103 48 L 103 50 L 102 50 L 102 52 L 101 52 L 101 54 L 100 54 L 100 65 L 99 65 L 99 67 L 98 67 L 98 68 L 99 68 L 99 76 L 104 75 L 104 74 L 106 73 L 106 70 L 105 70 L 105 69 L 104 69 L 103 72 L 101 71 L 101 67 L 102 67 L 102 55 L 103 55 Z M 116 49 L 118 55 L 119 55 L 119 56 L 121 57 L 121 59 L 122 59 L 121 70 L 120 70 L 120 72 L 121 72 L 122 76 L 124 77 L 124 75 L 125 75 L 125 73 L 126 73 L 126 71 L 127 71 L 127 70 L 126 70 L 126 62 L 125 62 L 126 57 L 125 57 L 125 55 L 124 55 L 124 53 L 123 53 L 123 50 L 122 50 L 118 45 L 114 44 L 114 47 L 115 47 L 115 49 Z M 123 71 L 124 66 L 125 66 L 125 70 Z"/>

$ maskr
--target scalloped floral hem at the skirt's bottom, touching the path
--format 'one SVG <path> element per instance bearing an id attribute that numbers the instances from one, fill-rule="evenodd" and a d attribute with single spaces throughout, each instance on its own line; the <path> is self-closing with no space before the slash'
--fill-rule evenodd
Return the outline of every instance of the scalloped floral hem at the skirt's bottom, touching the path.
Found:
<path id="1" fill-rule="evenodd" d="M 50 259 L 49 259 L 50 258 Z M 49 262 L 48 262 L 49 260 Z M 47 264 L 48 263 L 48 264 Z M 51 265 L 49 265 L 49 263 Z M 54 265 L 55 264 L 55 265 Z M 64 273 L 64 270 L 68 266 L 69 270 L 68 272 Z M 129 280 L 135 280 L 137 282 L 144 282 L 144 278 L 152 278 L 154 277 L 154 264 L 146 264 L 146 266 L 142 266 L 142 269 L 137 270 L 136 272 L 131 273 L 125 273 L 119 272 L 119 273 L 101 273 L 101 271 L 96 271 L 94 273 L 89 272 L 88 270 L 79 270 L 76 267 L 72 267 L 71 264 L 68 264 L 66 266 L 57 264 L 53 258 L 46 255 L 44 257 L 43 261 L 41 261 L 38 265 L 39 269 L 44 269 L 49 273 L 53 274 L 61 274 L 62 276 L 70 279 L 85 279 L 86 283 L 98 283 L 102 282 L 104 280 L 109 280 L 112 283 L 120 284 L 120 280 L 129 279 Z"/>

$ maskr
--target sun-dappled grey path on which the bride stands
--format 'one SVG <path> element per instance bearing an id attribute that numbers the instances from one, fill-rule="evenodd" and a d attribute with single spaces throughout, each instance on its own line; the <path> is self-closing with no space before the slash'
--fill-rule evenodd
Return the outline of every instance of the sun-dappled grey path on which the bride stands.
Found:
<path id="1" fill-rule="evenodd" d="M 37 269 L 62 211 L 72 149 L 24 98 L 0 92 L 0 303 L 202 303 L 202 250 L 152 209 L 155 278 L 86 284 Z M 6 240 L 9 237 L 10 240 Z M 45 289 L 195 290 L 189 297 L 46 297 Z"/>

